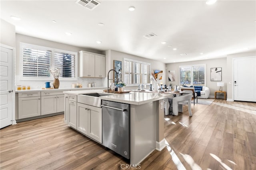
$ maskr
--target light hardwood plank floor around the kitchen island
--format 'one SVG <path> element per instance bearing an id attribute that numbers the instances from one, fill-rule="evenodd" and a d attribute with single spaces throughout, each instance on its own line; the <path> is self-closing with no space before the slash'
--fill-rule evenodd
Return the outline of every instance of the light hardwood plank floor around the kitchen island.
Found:
<path id="1" fill-rule="evenodd" d="M 256 169 L 256 103 L 192 104 L 178 116 L 165 116 L 168 145 L 139 167 L 146 170 L 200 168 Z M 0 169 L 122 169 L 125 160 L 64 124 L 64 115 L 46 117 L 0 130 Z M 129 168 L 129 167 L 128 167 Z"/>

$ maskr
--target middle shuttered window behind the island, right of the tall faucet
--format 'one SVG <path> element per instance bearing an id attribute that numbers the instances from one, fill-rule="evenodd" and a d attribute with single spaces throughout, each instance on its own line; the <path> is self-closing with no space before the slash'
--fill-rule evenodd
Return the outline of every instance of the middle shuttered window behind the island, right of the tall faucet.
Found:
<path id="1" fill-rule="evenodd" d="M 150 83 L 150 63 L 124 59 L 124 83 L 130 85 Z"/>

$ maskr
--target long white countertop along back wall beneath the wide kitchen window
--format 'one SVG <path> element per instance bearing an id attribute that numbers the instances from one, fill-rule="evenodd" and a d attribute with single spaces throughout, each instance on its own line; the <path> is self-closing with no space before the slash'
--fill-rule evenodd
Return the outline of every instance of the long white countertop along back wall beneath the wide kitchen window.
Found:
<path id="1" fill-rule="evenodd" d="M 33 90 L 16 90 L 15 93 L 21 92 L 53 92 L 53 91 L 65 91 L 65 90 L 92 90 L 92 89 L 107 89 L 107 87 L 83 87 L 83 88 L 56 88 L 56 89 L 33 89 Z"/>

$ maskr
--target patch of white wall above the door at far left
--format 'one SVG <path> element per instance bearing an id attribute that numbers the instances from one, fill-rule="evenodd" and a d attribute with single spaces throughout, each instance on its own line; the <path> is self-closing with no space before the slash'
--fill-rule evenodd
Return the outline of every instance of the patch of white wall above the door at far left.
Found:
<path id="1" fill-rule="evenodd" d="M 1 19 L 0 43 L 15 48 L 15 26 Z"/>

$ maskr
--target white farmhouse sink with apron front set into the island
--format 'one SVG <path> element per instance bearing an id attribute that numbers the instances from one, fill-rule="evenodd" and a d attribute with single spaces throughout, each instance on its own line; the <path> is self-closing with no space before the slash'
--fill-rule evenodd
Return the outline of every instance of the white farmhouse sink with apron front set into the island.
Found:
<path id="1" fill-rule="evenodd" d="M 82 104 L 88 104 L 90 106 L 101 107 L 100 96 L 109 96 L 113 94 L 104 93 L 85 93 L 77 96 L 77 102 Z"/>

